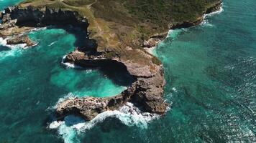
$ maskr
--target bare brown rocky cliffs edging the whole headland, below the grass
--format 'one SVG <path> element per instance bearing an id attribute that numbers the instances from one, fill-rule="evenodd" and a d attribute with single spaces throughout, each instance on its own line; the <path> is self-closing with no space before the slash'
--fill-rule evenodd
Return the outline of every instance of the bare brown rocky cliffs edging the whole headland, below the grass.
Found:
<path id="1" fill-rule="evenodd" d="M 221 3 L 218 3 L 204 13 L 216 11 L 220 6 Z M 5 12 L 0 14 L 0 19 L 2 20 L 0 35 L 2 37 L 12 36 L 12 40 L 10 39 L 7 43 L 26 43 L 28 46 L 34 43 L 28 36 L 20 36 L 20 34 L 24 34 L 35 27 L 66 24 L 79 27 L 86 31 L 84 38 L 86 44 L 69 53 L 64 60 L 65 62 L 76 64 L 86 69 L 99 68 L 111 71 L 117 68 L 134 78 L 134 82 L 127 87 L 127 90 L 119 95 L 106 98 L 73 98 L 59 103 L 56 109 L 58 119 L 63 119 L 69 114 L 76 114 L 86 120 L 91 120 L 102 112 L 119 109 L 127 102 L 132 102 L 143 112 L 161 115 L 166 113 L 168 103 L 165 102 L 163 97 L 165 79 L 163 65 L 160 61 L 157 62 L 155 56 L 147 53 L 147 51 L 131 49 L 129 46 L 126 46 L 124 50 L 127 52 L 133 50 L 133 52 L 136 52 L 134 56 L 150 59 L 150 61 L 147 61 L 147 64 L 142 64 L 140 59 L 132 61 L 129 58 L 120 56 L 119 52 L 111 49 L 99 50 L 99 41 L 91 39 L 88 34 L 89 22 L 86 16 L 82 16 L 76 11 L 52 9 L 47 6 L 37 8 L 32 6 L 22 8 L 13 6 L 6 8 Z M 170 29 L 194 26 L 200 24 L 203 19 L 203 16 L 201 16 L 197 21 L 183 21 L 183 23 L 171 24 Z M 140 45 L 146 48 L 157 46 L 160 41 L 165 39 L 167 34 L 168 32 L 164 32 L 150 36 L 149 39 L 142 41 Z"/>

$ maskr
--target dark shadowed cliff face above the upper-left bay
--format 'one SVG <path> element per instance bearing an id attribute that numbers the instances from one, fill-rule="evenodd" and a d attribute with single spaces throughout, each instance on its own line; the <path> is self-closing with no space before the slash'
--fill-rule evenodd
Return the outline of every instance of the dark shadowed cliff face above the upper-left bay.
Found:
<path id="1" fill-rule="evenodd" d="M 81 16 L 76 11 L 52 9 L 47 6 L 40 8 L 12 6 L 4 9 L 4 11 L 4 13 L 0 14 L 3 25 L 12 22 L 15 22 L 15 25 L 18 26 L 33 27 L 71 24 L 81 27 L 85 31 L 88 27 L 86 17 Z"/>

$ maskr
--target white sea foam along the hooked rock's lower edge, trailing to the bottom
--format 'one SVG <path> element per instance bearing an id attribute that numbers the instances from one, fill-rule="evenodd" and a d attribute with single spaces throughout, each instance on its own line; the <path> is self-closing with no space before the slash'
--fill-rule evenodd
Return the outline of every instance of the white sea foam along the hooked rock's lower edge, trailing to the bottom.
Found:
<path id="1" fill-rule="evenodd" d="M 134 104 L 128 102 L 118 110 L 106 111 L 98 114 L 89 122 L 85 122 L 80 117 L 70 115 L 65 117 L 64 121 L 53 121 L 48 127 L 49 129 L 58 129 L 58 133 L 63 137 L 64 142 L 70 143 L 73 142 L 73 140 L 77 140 L 77 134 L 92 129 L 96 124 L 104 122 L 104 120 L 109 117 L 119 119 L 122 124 L 127 126 L 137 126 L 146 129 L 147 124 L 153 119 L 158 119 L 160 115 L 141 112 L 140 109 L 134 106 Z"/>

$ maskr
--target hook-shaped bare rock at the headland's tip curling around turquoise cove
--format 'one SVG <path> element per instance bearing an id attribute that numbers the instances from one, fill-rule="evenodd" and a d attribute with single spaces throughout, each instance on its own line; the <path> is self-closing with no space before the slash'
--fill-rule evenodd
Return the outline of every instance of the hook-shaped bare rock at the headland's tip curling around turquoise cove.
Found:
<path id="1" fill-rule="evenodd" d="M 86 68 L 99 68 L 103 70 L 122 70 L 134 77 L 134 83 L 121 94 L 106 98 L 74 98 L 58 104 L 56 110 L 59 119 L 68 114 L 78 114 L 86 120 L 91 120 L 97 114 L 107 110 L 118 109 L 127 102 L 134 103 L 144 112 L 165 114 L 168 104 L 163 99 L 163 66 L 157 66 L 156 74 L 145 74 L 144 69 L 132 68 L 134 64 L 122 62 L 118 59 L 105 59 L 102 56 L 90 57 L 81 51 L 73 51 L 65 59 L 70 62 Z M 130 65 L 132 64 L 132 65 Z M 127 67 L 130 68 L 127 68 Z M 141 74 L 144 73 L 144 74 Z"/>

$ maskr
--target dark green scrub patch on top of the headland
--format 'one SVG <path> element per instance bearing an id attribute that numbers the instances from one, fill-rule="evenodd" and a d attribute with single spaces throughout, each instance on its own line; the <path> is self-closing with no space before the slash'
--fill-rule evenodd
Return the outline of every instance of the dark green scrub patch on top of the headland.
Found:
<path id="1" fill-rule="evenodd" d="M 130 0 L 125 6 L 142 20 L 166 26 L 170 22 L 193 21 L 219 0 Z"/>

